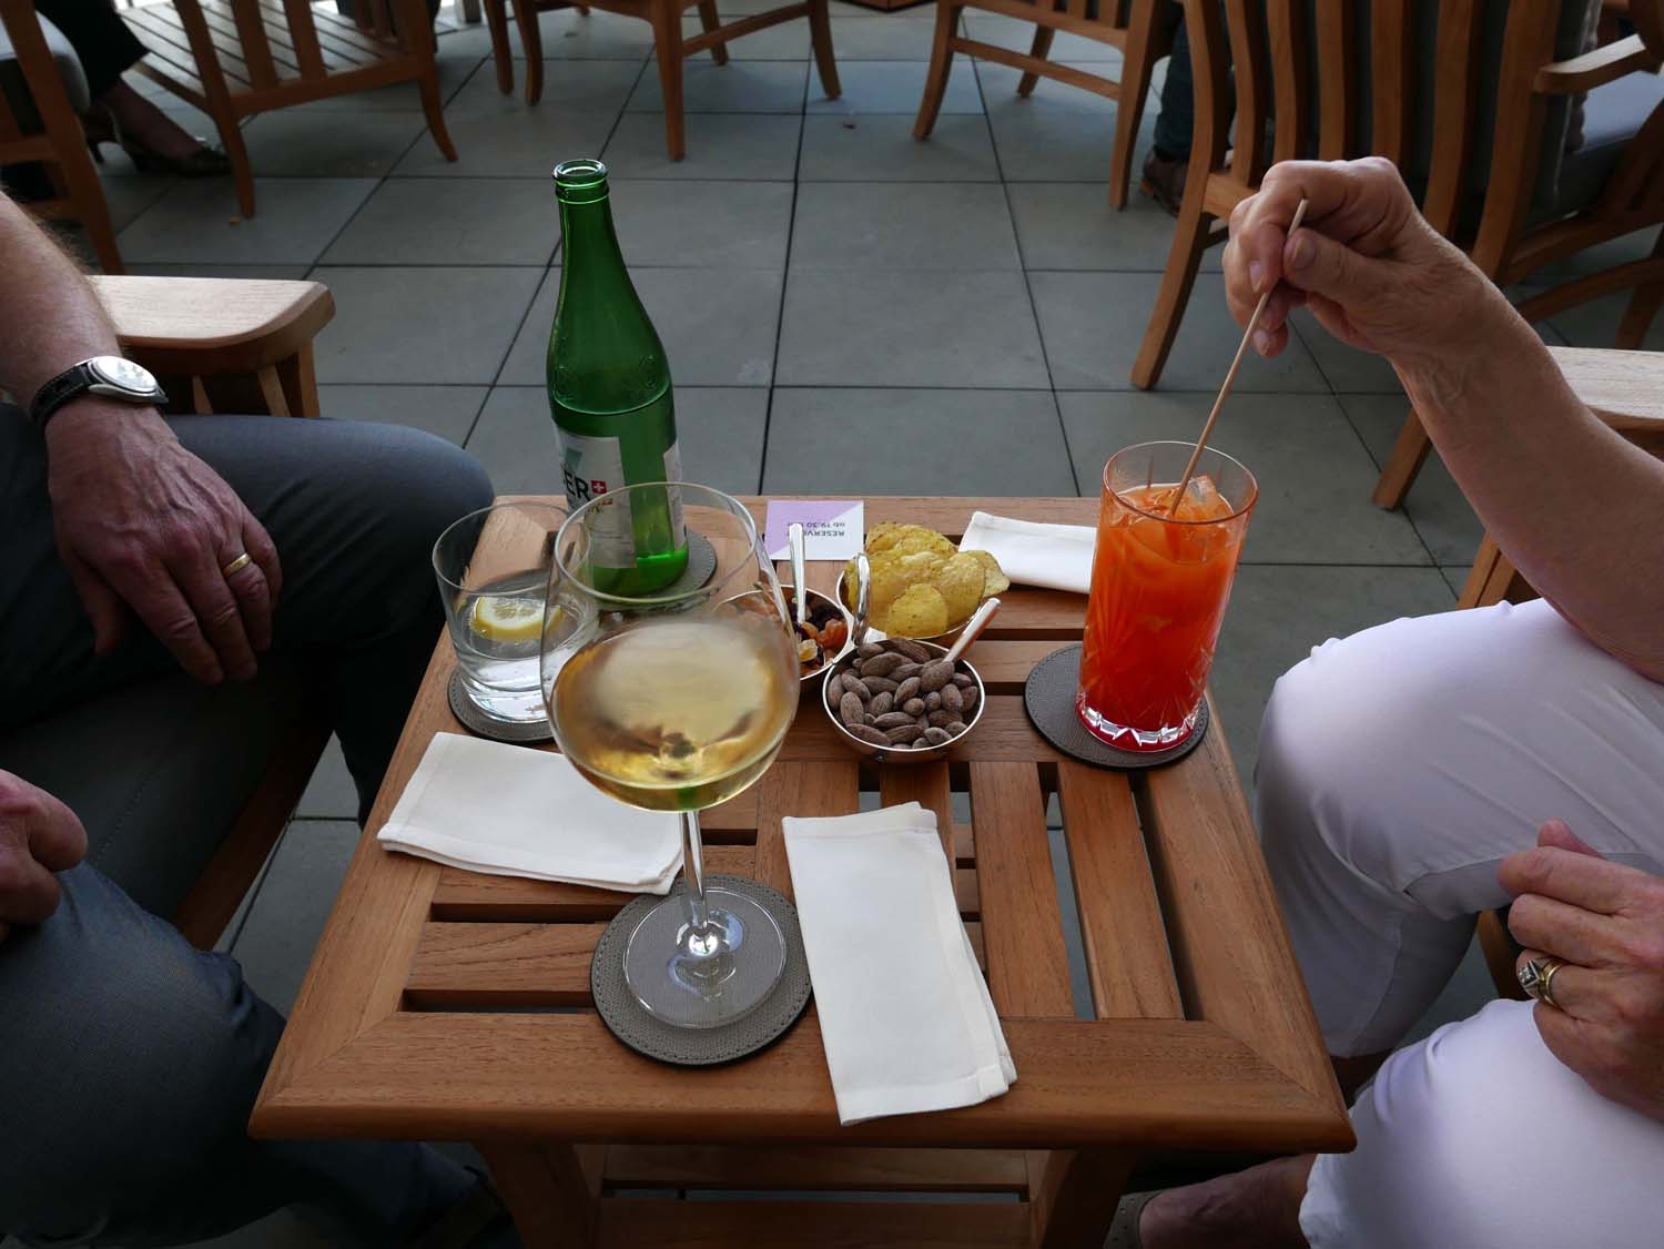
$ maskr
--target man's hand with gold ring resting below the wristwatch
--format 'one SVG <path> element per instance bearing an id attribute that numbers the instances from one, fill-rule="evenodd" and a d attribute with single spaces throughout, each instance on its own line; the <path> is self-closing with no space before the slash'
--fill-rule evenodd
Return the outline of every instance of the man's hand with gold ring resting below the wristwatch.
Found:
<path id="1" fill-rule="evenodd" d="M 125 600 L 198 680 L 253 677 L 255 652 L 271 645 L 283 574 L 231 487 L 155 411 L 95 396 L 52 419 L 47 449 L 58 554 L 97 654 L 120 645 Z M 253 564 L 226 577 L 245 550 Z"/>

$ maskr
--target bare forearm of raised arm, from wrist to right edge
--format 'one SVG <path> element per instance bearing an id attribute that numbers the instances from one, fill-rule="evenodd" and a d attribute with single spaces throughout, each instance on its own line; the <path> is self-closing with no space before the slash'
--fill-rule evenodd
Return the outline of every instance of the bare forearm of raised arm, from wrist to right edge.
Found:
<path id="1" fill-rule="evenodd" d="M 1664 462 L 1607 429 L 1488 288 L 1486 349 L 1399 378 L 1514 565 L 1592 642 L 1664 680 Z"/>

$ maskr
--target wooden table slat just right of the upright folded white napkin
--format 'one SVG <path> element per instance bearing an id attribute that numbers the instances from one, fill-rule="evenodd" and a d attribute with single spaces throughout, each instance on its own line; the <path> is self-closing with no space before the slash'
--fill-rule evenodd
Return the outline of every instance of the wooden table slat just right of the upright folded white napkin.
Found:
<path id="1" fill-rule="evenodd" d="M 1027 763 L 972 763 L 970 820 L 995 1008 L 1002 1016 L 1073 1015 L 1040 773 Z"/>

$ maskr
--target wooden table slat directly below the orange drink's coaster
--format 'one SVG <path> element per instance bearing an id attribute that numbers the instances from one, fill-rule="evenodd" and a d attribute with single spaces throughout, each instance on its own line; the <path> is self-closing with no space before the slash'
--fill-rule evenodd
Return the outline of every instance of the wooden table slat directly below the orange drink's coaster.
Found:
<path id="1" fill-rule="evenodd" d="M 1183 1018 L 1127 777 L 1063 762 L 1058 792 L 1098 1018 Z"/>

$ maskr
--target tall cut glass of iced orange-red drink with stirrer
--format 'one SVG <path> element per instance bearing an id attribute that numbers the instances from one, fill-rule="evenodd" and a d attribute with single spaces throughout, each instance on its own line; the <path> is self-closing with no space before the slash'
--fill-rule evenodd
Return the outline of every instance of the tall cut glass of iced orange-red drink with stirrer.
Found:
<path id="1" fill-rule="evenodd" d="M 1166 750 L 1196 727 L 1236 557 L 1260 487 L 1211 447 L 1176 499 L 1193 442 L 1143 442 L 1103 466 L 1075 710 L 1122 750 Z"/>

